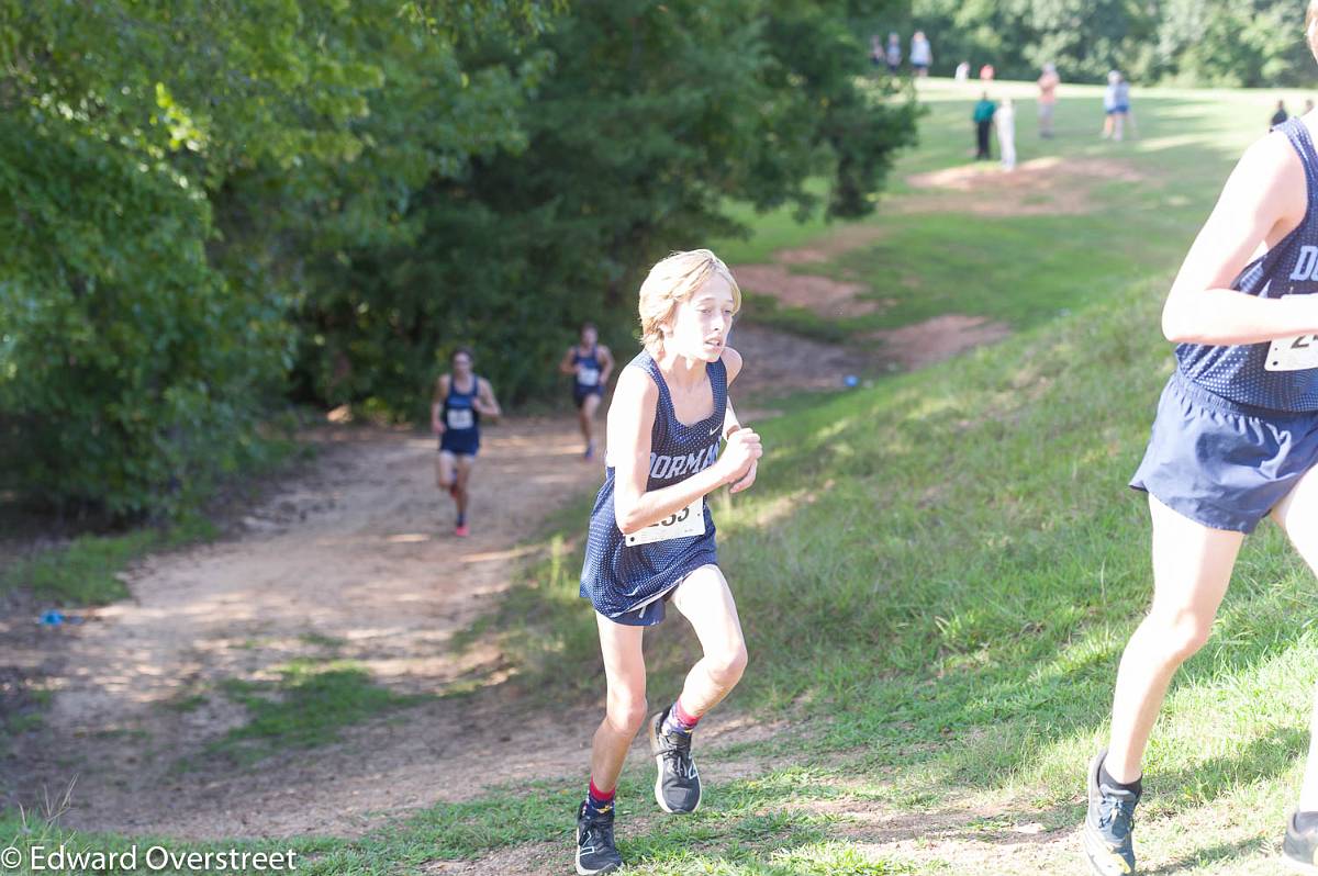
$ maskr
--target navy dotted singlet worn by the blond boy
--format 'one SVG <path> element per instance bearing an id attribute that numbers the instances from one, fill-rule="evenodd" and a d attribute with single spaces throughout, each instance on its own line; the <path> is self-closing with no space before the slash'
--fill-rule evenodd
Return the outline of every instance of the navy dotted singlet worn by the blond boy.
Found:
<path id="1" fill-rule="evenodd" d="M 714 395 L 714 410 L 691 425 L 677 420 L 668 385 L 650 353 L 642 352 L 627 368 L 645 370 L 659 387 L 659 404 L 650 431 L 650 477 L 646 491 L 672 486 L 713 465 L 718 458 L 718 443 L 728 410 L 728 368 L 722 360 L 705 365 Z M 590 532 L 581 569 L 581 597 L 608 618 L 633 626 L 648 626 L 663 619 L 660 598 L 680 584 L 685 574 L 718 561 L 714 518 L 709 512 L 706 497 L 704 535 L 627 545 L 614 516 L 613 478 L 613 466 L 605 468 L 604 486 L 590 511 Z"/>

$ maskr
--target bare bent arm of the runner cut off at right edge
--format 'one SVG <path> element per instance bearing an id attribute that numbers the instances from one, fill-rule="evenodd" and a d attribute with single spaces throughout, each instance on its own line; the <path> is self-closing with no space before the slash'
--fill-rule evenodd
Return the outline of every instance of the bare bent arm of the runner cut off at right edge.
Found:
<path id="1" fill-rule="evenodd" d="M 1304 166 L 1285 137 L 1252 145 L 1190 246 L 1162 307 L 1162 333 L 1190 344 L 1257 344 L 1318 333 L 1318 295 L 1257 298 L 1230 288 L 1263 245 L 1305 215 Z"/>

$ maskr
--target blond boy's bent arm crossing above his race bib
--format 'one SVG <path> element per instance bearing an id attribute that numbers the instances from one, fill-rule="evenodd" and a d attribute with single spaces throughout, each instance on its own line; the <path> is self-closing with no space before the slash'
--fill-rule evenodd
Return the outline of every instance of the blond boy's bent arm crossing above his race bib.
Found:
<path id="1" fill-rule="evenodd" d="M 609 406 L 608 447 L 614 466 L 613 514 L 623 535 L 639 532 L 676 514 L 742 474 L 734 468 L 735 460 L 730 454 L 721 456 L 717 462 L 685 481 L 647 491 L 650 432 L 658 408 L 659 387 L 650 375 L 639 368 L 622 369 Z M 750 435 L 742 443 L 758 449 L 754 432 L 745 432 Z"/>

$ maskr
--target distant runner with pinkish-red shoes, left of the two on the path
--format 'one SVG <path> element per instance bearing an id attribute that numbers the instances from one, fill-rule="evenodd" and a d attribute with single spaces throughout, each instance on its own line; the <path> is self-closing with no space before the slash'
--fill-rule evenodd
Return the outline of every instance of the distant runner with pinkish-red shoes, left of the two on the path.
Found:
<path id="1" fill-rule="evenodd" d="M 453 353 L 452 366 L 452 374 L 442 374 L 435 382 L 430 427 L 439 436 L 435 469 L 439 489 L 452 495 L 457 506 L 453 535 L 465 537 L 468 487 L 476 453 L 481 449 L 481 418 L 497 419 L 500 407 L 489 381 L 472 371 L 469 350 Z"/>

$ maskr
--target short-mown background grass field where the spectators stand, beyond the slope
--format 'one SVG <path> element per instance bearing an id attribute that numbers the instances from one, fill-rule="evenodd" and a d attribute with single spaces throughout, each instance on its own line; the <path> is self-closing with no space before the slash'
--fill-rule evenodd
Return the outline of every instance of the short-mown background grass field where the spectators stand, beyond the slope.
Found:
<path id="1" fill-rule="evenodd" d="M 1136 91 L 1139 136 L 1124 142 L 1098 137 L 1102 90 L 1062 90 L 1056 113 L 1057 137 L 1035 130 L 1035 91 L 1024 83 L 998 83 L 995 99 L 1017 101 L 1020 161 L 1110 162 L 1137 180 L 1102 173 L 1072 178 L 1069 190 L 1083 199 L 1081 215 L 978 216 L 949 212 L 948 192 L 915 188 L 913 174 L 971 163 L 970 109 L 978 86 L 931 80 L 921 88 L 928 115 L 920 145 L 898 161 L 888 195 L 861 224 L 878 229 L 875 240 L 828 263 L 791 270 L 824 274 L 869 287 L 861 295 L 880 302 L 874 314 L 828 321 L 804 308 L 764 306 L 764 292 L 747 288 L 743 319 L 829 341 L 865 342 L 875 329 L 917 323 L 948 312 L 985 316 L 1015 328 L 1036 325 L 1115 290 L 1174 267 L 1211 208 L 1231 165 L 1259 137 L 1276 96 L 1298 104 L 1298 92 Z M 1263 120 L 1263 121 L 1256 121 Z M 1253 123 L 1253 124 L 1251 124 Z M 998 173 L 995 166 L 983 167 Z M 820 180 L 818 184 L 824 184 Z M 1069 194 L 1069 192 L 1062 192 Z M 973 195 L 953 192 L 970 208 Z M 1061 195 L 1036 195 L 1046 202 Z M 979 198 L 983 198 L 981 195 Z M 1027 203 L 1029 199 L 1027 198 Z M 783 248 L 808 245 L 836 232 L 816 215 L 791 224 L 786 209 L 754 217 L 738 205 L 734 215 L 754 221 L 749 242 L 717 241 L 735 267 L 770 261 Z"/>

